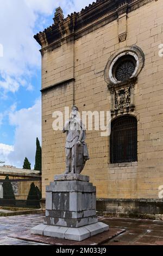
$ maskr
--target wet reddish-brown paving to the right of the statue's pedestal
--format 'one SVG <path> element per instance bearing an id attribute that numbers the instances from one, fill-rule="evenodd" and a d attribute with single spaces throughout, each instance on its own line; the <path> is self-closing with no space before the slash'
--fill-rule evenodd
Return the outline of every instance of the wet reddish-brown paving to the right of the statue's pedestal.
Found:
<path id="1" fill-rule="evenodd" d="M 163 245 L 163 221 L 130 218 L 101 218 L 110 227 L 126 229 L 126 232 L 104 245 Z"/>

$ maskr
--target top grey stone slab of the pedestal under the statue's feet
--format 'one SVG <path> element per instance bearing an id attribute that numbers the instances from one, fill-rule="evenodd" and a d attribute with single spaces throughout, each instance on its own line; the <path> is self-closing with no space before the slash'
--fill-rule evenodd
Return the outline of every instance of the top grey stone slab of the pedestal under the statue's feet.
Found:
<path id="1" fill-rule="evenodd" d="M 54 181 L 65 181 L 65 180 L 79 180 L 79 181 L 86 181 L 89 182 L 89 176 L 81 175 L 81 174 L 61 174 L 55 175 Z"/>

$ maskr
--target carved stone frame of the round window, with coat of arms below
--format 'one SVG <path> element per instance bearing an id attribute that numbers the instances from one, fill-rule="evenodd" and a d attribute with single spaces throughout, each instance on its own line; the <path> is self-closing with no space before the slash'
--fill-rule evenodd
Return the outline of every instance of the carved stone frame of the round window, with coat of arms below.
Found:
<path id="1" fill-rule="evenodd" d="M 114 66 L 124 56 L 131 56 L 135 59 L 135 70 L 127 81 L 117 81 L 114 76 Z M 104 70 L 105 82 L 111 93 L 111 114 L 117 115 L 124 112 L 133 112 L 135 109 L 134 87 L 137 76 L 145 65 L 145 55 L 141 48 L 136 45 L 120 48 L 109 58 Z"/>

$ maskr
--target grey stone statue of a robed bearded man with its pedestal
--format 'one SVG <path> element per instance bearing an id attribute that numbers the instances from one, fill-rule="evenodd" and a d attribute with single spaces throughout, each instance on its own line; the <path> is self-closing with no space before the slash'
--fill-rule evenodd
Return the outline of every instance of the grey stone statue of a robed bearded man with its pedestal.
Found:
<path id="1" fill-rule="evenodd" d="M 89 182 L 89 176 L 80 174 L 89 154 L 85 127 L 76 106 L 72 107 L 64 132 L 67 135 L 66 172 L 55 175 L 54 182 L 46 186 L 46 217 L 43 224 L 31 229 L 31 234 L 83 241 L 108 231 L 109 226 L 98 222 L 96 187 Z"/>

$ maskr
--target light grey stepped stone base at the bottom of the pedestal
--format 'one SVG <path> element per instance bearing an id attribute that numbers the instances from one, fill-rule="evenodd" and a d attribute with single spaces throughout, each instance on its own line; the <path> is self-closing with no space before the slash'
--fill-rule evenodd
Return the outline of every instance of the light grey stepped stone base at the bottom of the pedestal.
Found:
<path id="1" fill-rule="evenodd" d="M 85 225 L 84 227 L 80 228 L 67 228 L 40 224 L 31 229 L 31 234 L 44 235 L 74 241 L 83 241 L 93 235 L 97 235 L 108 230 L 109 226 L 102 222 Z"/>

